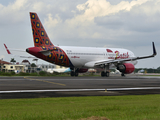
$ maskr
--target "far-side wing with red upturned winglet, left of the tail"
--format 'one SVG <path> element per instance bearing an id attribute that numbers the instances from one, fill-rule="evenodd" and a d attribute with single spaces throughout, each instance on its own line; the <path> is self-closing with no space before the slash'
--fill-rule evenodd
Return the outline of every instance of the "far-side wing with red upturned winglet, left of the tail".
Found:
<path id="1" fill-rule="evenodd" d="M 9 55 L 13 55 L 11 52 L 10 52 L 10 50 L 8 49 L 8 47 L 6 46 L 6 44 L 4 44 L 4 47 L 5 47 L 5 49 L 6 49 L 6 51 L 7 51 L 7 53 L 9 54 Z M 24 50 L 19 50 L 19 49 L 12 49 L 13 51 L 18 51 L 18 52 L 26 52 L 26 51 L 24 51 Z M 37 59 L 36 57 L 32 57 L 32 56 L 21 56 L 21 55 L 13 55 L 13 56 L 16 56 L 16 57 L 21 57 L 21 58 L 34 58 L 34 59 Z"/>

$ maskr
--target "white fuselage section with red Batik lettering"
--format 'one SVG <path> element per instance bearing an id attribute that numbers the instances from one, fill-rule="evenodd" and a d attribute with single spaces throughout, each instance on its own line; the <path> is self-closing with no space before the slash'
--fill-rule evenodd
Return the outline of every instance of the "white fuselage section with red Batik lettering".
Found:
<path id="1" fill-rule="evenodd" d="M 89 62 L 109 61 L 115 59 L 125 59 L 135 57 L 134 53 L 127 49 L 121 48 L 98 48 L 98 47 L 71 47 L 59 46 L 67 54 L 71 63 L 78 68 L 94 67 L 87 66 Z M 130 61 L 136 64 L 137 61 Z"/>

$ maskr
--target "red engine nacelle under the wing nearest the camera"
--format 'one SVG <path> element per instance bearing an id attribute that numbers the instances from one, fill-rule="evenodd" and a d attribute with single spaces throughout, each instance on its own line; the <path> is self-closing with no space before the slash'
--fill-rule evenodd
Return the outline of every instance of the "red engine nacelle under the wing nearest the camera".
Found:
<path id="1" fill-rule="evenodd" d="M 130 74 L 134 71 L 135 67 L 132 63 L 123 63 L 121 65 L 118 65 L 117 70 L 124 74 Z"/>

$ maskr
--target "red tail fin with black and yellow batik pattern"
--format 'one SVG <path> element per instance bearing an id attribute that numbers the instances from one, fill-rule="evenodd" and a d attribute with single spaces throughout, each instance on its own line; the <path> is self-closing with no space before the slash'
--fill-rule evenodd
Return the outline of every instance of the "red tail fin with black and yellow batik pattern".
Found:
<path id="1" fill-rule="evenodd" d="M 32 25 L 32 33 L 35 47 L 48 47 L 53 46 L 50 41 L 37 13 L 30 12 L 31 25 Z"/>

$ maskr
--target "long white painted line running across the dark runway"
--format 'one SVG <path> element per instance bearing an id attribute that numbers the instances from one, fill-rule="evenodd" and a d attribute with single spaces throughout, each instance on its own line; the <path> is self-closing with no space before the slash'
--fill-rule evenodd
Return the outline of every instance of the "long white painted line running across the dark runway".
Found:
<path id="1" fill-rule="evenodd" d="M 0 93 L 21 93 L 21 92 L 80 92 L 80 91 L 122 91 L 122 90 L 151 90 L 151 89 L 160 89 L 160 87 L 110 88 L 110 89 L 13 90 L 13 91 L 0 91 Z"/>

